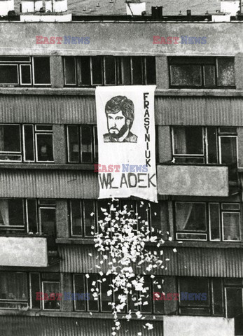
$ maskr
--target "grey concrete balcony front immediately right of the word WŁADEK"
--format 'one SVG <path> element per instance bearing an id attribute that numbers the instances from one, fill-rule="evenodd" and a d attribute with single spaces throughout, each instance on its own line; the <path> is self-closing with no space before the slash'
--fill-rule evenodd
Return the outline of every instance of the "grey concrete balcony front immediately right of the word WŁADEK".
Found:
<path id="1" fill-rule="evenodd" d="M 230 195 L 229 167 L 158 165 L 158 194 L 179 196 Z"/>

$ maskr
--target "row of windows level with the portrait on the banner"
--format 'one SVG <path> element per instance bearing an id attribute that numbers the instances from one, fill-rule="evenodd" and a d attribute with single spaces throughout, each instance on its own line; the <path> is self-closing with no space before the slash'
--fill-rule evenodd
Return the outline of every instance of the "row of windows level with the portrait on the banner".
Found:
<path id="1" fill-rule="evenodd" d="M 67 125 L 70 163 L 98 162 L 97 127 Z M 172 127 L 174 163 L 237 168 L 236 127 Z M 0 124 L 0 162 L 53 162 L 53 125 Z M 231 171 L 230 174 L 235 174 Z"/>

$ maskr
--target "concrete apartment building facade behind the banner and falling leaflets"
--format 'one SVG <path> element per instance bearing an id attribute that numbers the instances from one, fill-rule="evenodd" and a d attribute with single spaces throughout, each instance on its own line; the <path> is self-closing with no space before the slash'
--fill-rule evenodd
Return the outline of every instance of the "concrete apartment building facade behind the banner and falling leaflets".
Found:
<path id="1" fill-rule="evenodd" d="M 16 14 L 13 0 L 0 0 L 0 335 L 111 335 L 107 283 L 98 301 L 39 301 L 36 292 L 89 293 L 99 280 L 91 227 L 98 230 L 108 201 L 97 200 L 95 87 L 151 84 L 159 202 L 146 204 L 146 216 L 165 235 L 169 259 L 154 275 L 165 293 L 207 300 L 155 301 L 148 276 L 142 309 L 153 330 L 134 316 L 118 335 L 243 335 L 243 25 L 235 2 L 222 1 L 229 13 L 169 17 L 154 8 L 152 16 L 107 18 L 44 2 L 23 0 Z M 139 212 L 139 200 L 120 202 Z"/>

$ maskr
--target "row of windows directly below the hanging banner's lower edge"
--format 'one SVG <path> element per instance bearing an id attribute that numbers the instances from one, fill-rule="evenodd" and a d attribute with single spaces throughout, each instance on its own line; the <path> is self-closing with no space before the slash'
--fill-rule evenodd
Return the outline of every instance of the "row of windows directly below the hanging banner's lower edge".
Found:
<path id="1" fill-rule="evenodd" d="M 99 221 L 104 219 L 101 209 L 110 212 L 110 207 L 108 200 L 70 200 L 71 237 L 93 237 L 92 232 L 99 232 Z M 162 225 L 165 231 L 164 202 L 119 201 L 118 209 L 123 207 L 130 211 L 130 218 L 137 219 L 134 230 L 148 223 L 156 235 L 160 236 Z M 110 213 L 112 216 L 113 211 Z M 177 240 L 241 241 L 239 203 L 174 202 L 174 221 Z M 55 200 L 0 199 L 0 232 L 39 232 L 48 235 L 54 245 L 55 223 Z"/>

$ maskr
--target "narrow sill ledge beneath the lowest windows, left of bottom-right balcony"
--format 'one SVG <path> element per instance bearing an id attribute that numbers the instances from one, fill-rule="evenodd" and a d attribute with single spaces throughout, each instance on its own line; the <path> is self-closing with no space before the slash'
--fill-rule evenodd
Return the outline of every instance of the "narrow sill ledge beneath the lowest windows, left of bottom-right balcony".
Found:
<path id="1" fill-rule="evenodd" d="M 74 317 L 74 318 L 107 318 L 113 319 L 113 315 L 111 313 L 96 313 L 92 312 L 92 315 L 88 311 L 47 311 L 47 310 L 40 310 L 40 309 L 30 309 L 28 311 L 21 311 L 18 309 L 0 309 L 0 316 L 3 315 L 22 315 L 22 316 L 50 316 L 50 317 Z M 125 316 L 124 314 L 118 314 L 118 317 L 122 318 Z M 145 317 L 146 316 L 146 317 Z M 153 319 L 153 316 L 156 316 L 156 320 Z M 163 315 L 159 314 L 145 314 L 144 313 L 144 320 L 146 321 L 163 321 Z M 132 314 L 132 320 L 137 320 L 137 316 Z"/>

